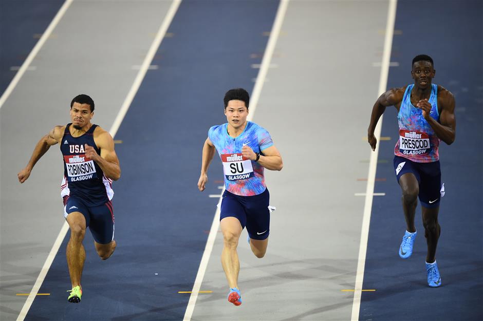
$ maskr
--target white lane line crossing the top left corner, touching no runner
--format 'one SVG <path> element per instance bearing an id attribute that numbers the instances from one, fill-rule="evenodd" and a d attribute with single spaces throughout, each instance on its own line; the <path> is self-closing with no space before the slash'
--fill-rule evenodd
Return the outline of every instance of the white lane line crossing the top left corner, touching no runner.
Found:
<path id="1" fill-rule="evenodd" d="M 17 83 L 20 81 L 20 79 L 24 75 L 28 66 L 30 66 L 30 64 L 32 63 L 32 60 L 35 58 L 35 56 L 39 52 L 40 48 L 42 48 L 44 43 L 49 38 L 50 34 L 52 33 L 52 30 L 55 28 L 55 26 L 57 26 L 59 21 L 62 19 L 62 17 L 64 16 L 64 13 L 67 11 L 67 8 L 69 8 L 71 3 L 72 3 L 72 0 L 67 0 L 66 2 L 64 2 L 62 7 L 59 9 L 59 12 L 57 12 L 57 14 L 53 18 L 52 22 L 47 27 L 47 30 L 45 30 L 45 32 L 42 34 L 39 41 L 33 47 L 32 51 L 30 51 L 29 55 L 27 56 L 27 59 L 22 64 L 22 67 L 20 67 L 20 69 L 18 69 L 17 73 L 15 74 L 15 77 L 13 77 L 13 79 L 10 82 L 10 84 L 8 85 L 7 89 L 5 89 L 2 97 L 0 97 L 0 108 L 2 108 L 5 101 L 8 99 L 8 97 L 12 93 L 13 89 L 15 88 Z"/>

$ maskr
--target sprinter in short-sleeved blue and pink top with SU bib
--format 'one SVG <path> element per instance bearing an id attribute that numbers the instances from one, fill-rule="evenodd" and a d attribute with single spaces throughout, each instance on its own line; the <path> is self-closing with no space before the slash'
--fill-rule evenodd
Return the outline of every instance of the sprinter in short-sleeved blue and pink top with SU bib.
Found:
<path id="1" fill-rule="evenodd" d="M 229 90 L 224 99 L 228 123 L 213 126 L 203 146 L 200 191 L 208 181 L 208 167 L 215 155 L 221 158 L 225 173 L 225 192 L 222 196 L 220 226 L 224 248 L 221 265 L 230 291 L 228 301 L 242 304 L 238 289 L 240 264 L 236 248 L 238 239 L 247 227 L 250 248 L 256 257 L 264 257 L 270 233 L 270 210 L 264 168 L 281 171 L 282 157 L 273 145 L 268 131 L 247 121 L 250 97 L 245 89 Z"/>

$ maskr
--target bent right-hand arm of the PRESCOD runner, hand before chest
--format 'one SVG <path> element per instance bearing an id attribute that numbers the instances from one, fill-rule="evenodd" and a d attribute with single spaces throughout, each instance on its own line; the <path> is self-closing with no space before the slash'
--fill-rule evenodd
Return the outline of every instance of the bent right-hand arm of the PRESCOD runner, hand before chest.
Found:
<path id="1" fill-rule="evenodd" d="M 427 99 L 420 100 L 417 107 L 421 108 L 424 119 L 433 128 L 434 133 L 440 140 L 451 145 L 456 138 L 456 118 L 455 118 L 455 99 L 451 92 L 446 89 L 438 93 L 441 104 L 441 114 L 439 123 L 430 116 L 431 104 Z"/>

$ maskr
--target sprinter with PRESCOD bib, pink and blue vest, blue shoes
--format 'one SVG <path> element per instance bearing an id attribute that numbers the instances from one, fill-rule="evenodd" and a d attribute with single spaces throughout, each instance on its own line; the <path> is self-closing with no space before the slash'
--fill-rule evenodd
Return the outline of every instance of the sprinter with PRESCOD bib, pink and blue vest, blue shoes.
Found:
<path id="1" fill-rule="evenodd" d="M 399 256 L 413 253 L 416 237 L 414 216 L 417 198 L 422 207 L 424 236 L 428 243 L 426 276 L 430 287 L 441 286 L 436 265 L 436 246 L 441 228 L 439 203 L 443 195 L 439 165 L 439 141 L 451 145 L 456 135 L 453 94 L 432 84 L 436 71 L 433 59 L 425 54 L 413 59 L 414 84 L 384 92 L 376 101 L 367 130 L 367 140 L 376 149 L 374 130 L 387 106 L 398 110 L 399 138 L 394 149 L 394 169 L 402 191 L 402 205 L 407 229 L 399 247 Z"/>

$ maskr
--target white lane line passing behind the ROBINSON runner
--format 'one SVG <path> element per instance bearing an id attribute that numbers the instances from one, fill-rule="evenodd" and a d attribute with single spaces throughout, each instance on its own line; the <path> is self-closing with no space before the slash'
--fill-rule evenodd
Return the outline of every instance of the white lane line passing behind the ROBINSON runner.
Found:
<path id="1" fill-rule="evenodd" d="M 168 27 L 170 26 L 171 21 L 173 20 L 173 17 L 176 14 L 176 11 L 178 10 L 180 3 L 181 3 L 181 0 L 174 0 L 173 3 L 171 4 L 170 9 L 166 13 L 166 16 L 164 17 L 161 27 L 159 28 L 158 34 L 155 40 L 153 41 L 153 43 L 151 44 L 151 48 L 146 54 L 146 58 L 144 59 L 142 68 L 139 70 L 137 77 L 134 80 L 133 86 L 131 87 L 131 90 L 129 90 L 129 93 L 127 94 L 127 97 L 125 98 L 124 103 L 122 104 L 122 107 L 119 110 L 116 120 L 114 121 L 112 127 L 109 130 L 109 133 L 113 138 L 114 136 L 116 136 L 117 130 L 119 129 L 119 126 L 121 125 L 121 122 L 124 119 L 124 116 L 126 115 L 127 109 L 129 109 L 129 105 L 131 105 L 131 102 L 133 101 L 134 96 L 136 95 L 136 92 L 139 89 L 139 86 L 144 78 L 144 75 L 146 74 L 147 67 L 150 66 L 151 61 L 153 60 L 153 56 L 156 53 L 156 50 L 159 48 L 159 45 L 161 44 L 161 40 L 163 39 L 163 35 L 164 33 L 166 33 L 166 30 L 168 30 Z M 23 321 L 25 316 L 27 315 L 27 312 L 33 303 L 33 299 L 35 298 L 36 294 L 39 292 L 39 289 L 42 286 L 42 282 L 44 281 L 44 278 L 47 275 L 47 272 L 50 269 L 50 266 L 52 265 L 52 261 L 55 257 L 55 254 L 57 254 L 57 252 L 59 251 L 59 248 L 68 230 L 69 230 L 69 225 L 67 224 L 67 222 L 64 222 L 64 225 L 62 225 L 62 229 L 59 232 L 57 239 L 55 239 L 55 242 L 53 243 L 52 249 L 50 250 L 48 257 L 45 260 L 44 266 L 42 267 L 42 270 L 39 276 L 37 277 L 37 280 L 35 281 L 35 284 L 32 290 L 30 291 L 30 295 L 28 296 L 27 301 L 25 301 L 24 307 L 22 308 L 22 311 L 17 317 L 17 321 Z"/>

